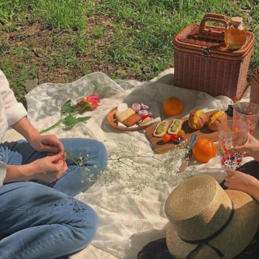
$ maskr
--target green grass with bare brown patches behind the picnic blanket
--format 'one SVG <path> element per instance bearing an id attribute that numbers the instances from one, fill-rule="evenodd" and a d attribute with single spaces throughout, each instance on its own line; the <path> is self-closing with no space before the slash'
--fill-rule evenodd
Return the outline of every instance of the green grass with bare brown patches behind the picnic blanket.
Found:
<path id="1" fill-rule="evenodd" d="M 0 0 L 0 67 L 23 102 L 23 84 L 37 77 L 40 64 L 41 82 L 73 81 L 93 71 L 149 80 L 174 66 L 174 35 L 209 12 L 241 16 L 259 37 L 255 0 Z M 37 33 L 24 34 L 35 26 Z M 257 66 L 256 41 L 249 71 Z M 68 73 L 60 75 L 59 68 Z"/>

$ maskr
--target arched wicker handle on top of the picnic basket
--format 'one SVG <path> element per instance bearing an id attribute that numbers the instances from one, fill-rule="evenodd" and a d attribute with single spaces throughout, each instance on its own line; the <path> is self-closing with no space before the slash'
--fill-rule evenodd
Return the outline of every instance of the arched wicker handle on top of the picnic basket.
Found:
<path id="1" fill-rule="evenodd" d="M 205 23 L 206 22 L 218 22 L 225 24 L 225 28 L 229 26 L 230 20 L 227 16 L 222 14 L 213 14 L 209 13 L 204 15 L 202 21 L 199 26 L 198 36 L 201 38 L 209 38 L 209 39 L 217 39 L 217 40 L 224 40 L 224 32 L 219 32 L 213 29 L 206 29 Z"/>

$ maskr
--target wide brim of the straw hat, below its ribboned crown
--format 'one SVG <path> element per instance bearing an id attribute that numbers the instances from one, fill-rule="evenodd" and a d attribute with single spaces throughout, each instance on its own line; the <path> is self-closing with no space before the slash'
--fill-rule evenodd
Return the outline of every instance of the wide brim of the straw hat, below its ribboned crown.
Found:
<path id="1" fill-rule="evenodd" d="M 258 203 L 248 194 L 240 191 L 226 190 L 234 204 L 234 215 L 226 229 L 209 241 L 209 245 L 217 247 L 225 259 L 232 259 L 250 243 L 259 226 Z M 166 244 L 170 254 L 176 258 L 186 258 L 198 244 L 184 242 L 170 223 L 166 232 Z M 203 244 L 195 251 L 192 259 L 219 259 L 220 256 L 208 245 Z"/>

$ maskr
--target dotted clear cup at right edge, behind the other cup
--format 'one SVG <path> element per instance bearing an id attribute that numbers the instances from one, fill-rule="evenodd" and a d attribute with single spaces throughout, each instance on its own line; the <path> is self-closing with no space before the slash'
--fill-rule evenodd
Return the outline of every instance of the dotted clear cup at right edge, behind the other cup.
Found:
<path id="1" fill-rule="evenodd" d="M 248 132 L 253 134 L 259 119 L 259 106 L 250 102 L 238 102 L 234 105 L 233 120 L 248 124 Z"/>

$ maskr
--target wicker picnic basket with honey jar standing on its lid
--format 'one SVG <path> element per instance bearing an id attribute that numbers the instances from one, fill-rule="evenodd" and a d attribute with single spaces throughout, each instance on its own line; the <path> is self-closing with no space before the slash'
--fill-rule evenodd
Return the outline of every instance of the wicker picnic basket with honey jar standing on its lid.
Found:
<path id="1" fill-rule="evenodd" d="M 225 27 L 208 26 L 217 22 Z M 206 14 L 200 24 L 191 24 L 174 37 L 175 85 L 199 90 L 215 97 L 241 99 L 247 87 L 247 71 L 254 35 L 247 32 L 245 44 L 236 51 L 228 49 L 224 31 L 230 20 L 225 15 Z"/>

